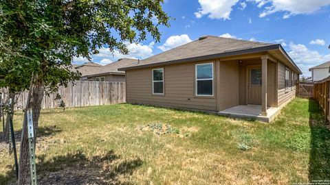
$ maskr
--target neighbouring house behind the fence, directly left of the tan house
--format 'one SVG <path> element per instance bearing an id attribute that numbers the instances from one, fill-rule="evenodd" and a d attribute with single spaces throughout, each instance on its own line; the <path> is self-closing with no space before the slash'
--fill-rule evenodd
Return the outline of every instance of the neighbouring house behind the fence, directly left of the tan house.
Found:
<path id="1" fill-rule="evenodd" d="M 81 68 L 78 68 L 78 71 L 82 73 L 81 78 L 83 80 L 92 80 L 100 82 L 125 82 L 125 72 L 118 71 L 118 68 L 129 66 L 135 63 L 137 63 L 137 60 L 135 59 L 122 58 L 116 62 L 111 62 L 110 64 L 107 64 L 105 66 L 99 64 L 99 66 L 93 65 L 93 67 L 83 66 Z"/>

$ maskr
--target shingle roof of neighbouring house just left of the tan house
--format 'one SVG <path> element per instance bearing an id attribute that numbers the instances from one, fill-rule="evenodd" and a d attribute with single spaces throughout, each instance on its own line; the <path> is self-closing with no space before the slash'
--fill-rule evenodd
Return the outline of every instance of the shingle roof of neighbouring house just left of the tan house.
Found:
<path id="1" fill-rule="evenodd" d="M 107 64 L 105 66 L 100 67 L 93 67 L 90 68 L 87 73 L 84 73 L 82 77 L 84 76 L 99 76 L 99 75 L 109 75 L 109 74 L 117 74 L 117 75 L 124 75 L 124 71 L 118 71 L 119 68 L 135 65 L 137 64 L 138 60 L 131 59 L 131 58 L 122 58 L 116 62 L 111 62 L 110 64 Z M 80 69 L 78 69 L 80 71 Z"/>

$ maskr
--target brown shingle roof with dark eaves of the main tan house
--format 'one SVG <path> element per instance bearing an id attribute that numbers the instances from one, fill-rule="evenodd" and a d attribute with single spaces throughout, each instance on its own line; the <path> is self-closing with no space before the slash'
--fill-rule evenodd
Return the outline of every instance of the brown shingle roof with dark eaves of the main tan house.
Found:
<path id="1" fill-rule="evenodd" d="M 180 62 L 193 62 L 197 60 L 211 60 L 225 56 L 235 56 L 245 53 L 256 53 L 278 49 L 281 50 L 285 58 L 300 71 L 298 66 L 294 64 L 287 55 L 281 45 L 274 45 L 265 42 L 254 42 L 249 40 L 240 40 L 234 38 L 222 38 L 218 36 L 202 36 L 198 40 L 181 45 L 174 49 L 164 51 L 145 60 L 141 60 L 137 64 L 124 67 L 121 71 L 129 69 L 139 69 L 146 66 L 159 66 L 161 64 L 175 64 Z"/>

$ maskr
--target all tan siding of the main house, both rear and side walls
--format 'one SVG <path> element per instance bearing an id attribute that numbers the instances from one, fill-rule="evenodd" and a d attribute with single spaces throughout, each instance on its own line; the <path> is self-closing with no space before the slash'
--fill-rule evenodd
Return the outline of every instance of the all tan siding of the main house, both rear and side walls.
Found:
<path id="1" fill-rule="evenodd" d="M 195 64 L 208 62 L 214 63 L 214 96 L 197 97 L 195 95 Z M 126 71 L 126 101 L 209 111 L 221 111 L 233 106 L 245 105 L 246 67 L 253 64 L 261 65 L 261 60 L 217 60 L 217 62 L 212 60 L 129 70 Z M 164 95 L 153 95 L 152 69 L 159 68 L 164 69 Z M 278 69 L 277 72 L 276 69 Z M 278 88 L 277 91 L 276 88 Z M 281 62 L 269 60 L 267 62 L 267 106 L 281 106 L 294 97 L 295 92 L 296 87 L 292 86 L 285 93 L 285 66 Z"/>

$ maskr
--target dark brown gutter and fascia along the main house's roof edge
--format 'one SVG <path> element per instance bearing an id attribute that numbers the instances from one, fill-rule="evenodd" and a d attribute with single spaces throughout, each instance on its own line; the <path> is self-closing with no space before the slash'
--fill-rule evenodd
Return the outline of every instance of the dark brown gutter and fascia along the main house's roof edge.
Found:
<path id="1" fill-rule="evenodd" d="M 265 52 L 265 51 L 276 50 L 276 49 L 279 49 L 283 53 L 283 55 L 294 66 L 296 66 L 296 64 L 294 64 L 294 61 L 284 51 L 283 47 L 279 44 L 276 44 L 276 45 L 269 45 L 269 46 L 265 46 L 265 47 L 255 47 L 255 48 L 251 48 L 251 49 L 241 49 L 241 50 L 236 50 L 236 51 L 228 51 L 228 52 L 217 53 L 217 54 L 212 54 L 212 55 L 208 55 L 208 56 L 199 56 L 199 57 L 194 57 L 194 58 L 184 58 L 184 59 L 179 59 L 179 60 L 169 60 L 169 61 L 166 61 L 166 62 L 157 62 L 157 63 L 153 63 L 153 64 L 143 64 L 143 65 L 140 65 L 140 66 L 128 66 L 128 67 L 120 68 L 120 69 L 118 69 L 118 71 L 127 71 L 127 70 L 131 70 L 131 69 L 143 69 L 143 68 L 146 68 L 146 67 L 163 66 L 163 65 L 169 65 L 169 64 L 181 64 L 181 63 L 184 63 L 184 62 L 198 62 L 198 61 L 201 61 L 201 60 L 212 60 L 214 58 L 223 58 L 223 57 L 228 57 L 228 56 L 239 56 L 239 55 L 244 55 L 244 54 L 259 53 L 259 52 Z M 302 72 L 300 71 L 298 66 L 296 66 L 296 68 L 298 69 L 300 74 L 302 74 Z"/>

